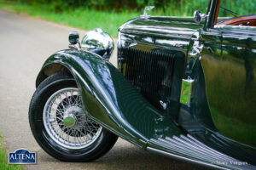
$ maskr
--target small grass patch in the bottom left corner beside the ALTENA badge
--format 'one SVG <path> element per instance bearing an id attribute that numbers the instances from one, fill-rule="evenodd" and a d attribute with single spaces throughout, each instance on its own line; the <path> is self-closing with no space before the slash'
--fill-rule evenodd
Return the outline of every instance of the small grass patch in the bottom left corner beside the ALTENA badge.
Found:
<path id="1" fill-rule="evenodd" d="M 0 169 L 2 170 L 22 170 L 22 165 L 8 164 L 8 153 L 3 142 L 3 133 L 0 132 Z"/>

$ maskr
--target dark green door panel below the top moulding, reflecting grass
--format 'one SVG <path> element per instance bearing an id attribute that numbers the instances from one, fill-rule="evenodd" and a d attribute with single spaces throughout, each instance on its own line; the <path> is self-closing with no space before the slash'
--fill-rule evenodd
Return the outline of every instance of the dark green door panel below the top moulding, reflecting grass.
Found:
<path id="1" fill-rule="evenodd" d="M 212 118 L 231 139 L 256 146 L 256 54 L 250 48 L 223 46 L 222 55 L 201 60 Z"/>

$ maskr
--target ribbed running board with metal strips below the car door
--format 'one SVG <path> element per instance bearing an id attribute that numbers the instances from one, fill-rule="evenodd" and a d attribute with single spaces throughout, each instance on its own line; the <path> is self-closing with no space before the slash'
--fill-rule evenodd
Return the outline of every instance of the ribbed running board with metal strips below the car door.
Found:
<path id="1" fill-rule="evenodd" d="M 152 144 L 152 146 L 150 145 Z M 158 150 L 154 145 L 166 148 L 166 150 Z M 218 169 L 255 169 L 253 165 L 247 162 L 239 161 L 231 156 L 227 156 L 218 150 L 214 150 L 195 139 L 190 134 L 172 138 L 150 139 L 148 151 L 156 152 L 161 155 L 171 156 L 178 160 L 199 163 L 203 166 Z"/>

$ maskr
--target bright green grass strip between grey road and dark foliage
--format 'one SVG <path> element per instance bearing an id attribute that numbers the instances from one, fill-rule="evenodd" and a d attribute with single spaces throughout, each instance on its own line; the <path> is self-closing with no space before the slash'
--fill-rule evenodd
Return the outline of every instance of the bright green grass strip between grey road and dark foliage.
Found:
<path id="1" fill-rule="evenodd" d="M 140 16 L 140 13 L 135 12 L 113 13 L 92 9 L 89 10 L 86 8 L 77 8 L 75 10 L 64 11 L 62 13 L 55 13 L 51 11 L 46 4 L 30 6 L 6 0 L 0 0 L 0 8 L 13 11 L 17 14 L 29 14 L 43 20 L 50 20 L 84 30 L 102 28 L 112 37 L 117 37 L 118 28 L 119 26 L 122 26 L 125 21 Z"/>

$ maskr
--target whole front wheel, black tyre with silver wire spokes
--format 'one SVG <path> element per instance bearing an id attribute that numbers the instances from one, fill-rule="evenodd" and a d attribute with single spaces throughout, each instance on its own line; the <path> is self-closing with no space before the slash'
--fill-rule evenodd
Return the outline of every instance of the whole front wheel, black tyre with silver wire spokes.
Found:
<path id="1" fill-rule="evenodd" d="M 82 108 L 69 73 L 56 73 L 38 86 L 29 107 L 29 123 L 34 138 L 50 156 L 93 161 L 113 147 L 118 137 L 88 118 Z"/>

